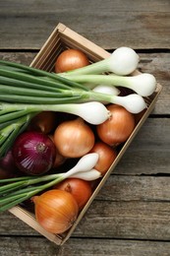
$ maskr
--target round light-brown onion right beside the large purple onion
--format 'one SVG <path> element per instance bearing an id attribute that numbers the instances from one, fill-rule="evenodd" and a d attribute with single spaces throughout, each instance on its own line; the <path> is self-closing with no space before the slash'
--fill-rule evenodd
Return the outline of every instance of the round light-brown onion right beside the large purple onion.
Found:
<path id="1" fill-rule="evenodd" d="M 54 132 L 54 144 L 65 158 L 81 158 L 93 147 L 94 133 L 82 118 L 64 121 Z"/>

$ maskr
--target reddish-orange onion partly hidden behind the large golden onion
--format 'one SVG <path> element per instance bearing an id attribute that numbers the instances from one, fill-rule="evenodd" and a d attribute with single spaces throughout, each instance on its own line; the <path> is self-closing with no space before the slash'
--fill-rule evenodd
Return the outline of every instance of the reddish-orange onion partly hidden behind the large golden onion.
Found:
<path id="1" fill-rule="evenodd" d="M 79 210 L 85 207 L 92 194 L 90 182 L 80 178 L 67 178 L 55 185 L 54 188 L 71 193 L 78 203 Z"/>

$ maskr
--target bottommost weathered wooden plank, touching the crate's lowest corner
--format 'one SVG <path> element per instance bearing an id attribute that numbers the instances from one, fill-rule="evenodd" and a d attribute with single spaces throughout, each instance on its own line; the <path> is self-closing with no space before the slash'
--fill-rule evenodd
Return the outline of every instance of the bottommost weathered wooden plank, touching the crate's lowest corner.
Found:
<path id="1" fill-rule="evenodd" d="M 62 247 L 56 246 L 42 237 L 1 237 L 1 256 L 168 256 L 169 242 L 133 241 L 120 239 L 71 238 Z"/>

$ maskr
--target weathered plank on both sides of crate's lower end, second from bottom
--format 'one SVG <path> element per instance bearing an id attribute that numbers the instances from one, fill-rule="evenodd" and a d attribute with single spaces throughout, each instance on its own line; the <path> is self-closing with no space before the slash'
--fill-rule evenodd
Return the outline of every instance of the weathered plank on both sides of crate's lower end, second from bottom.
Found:
<path id="1" fill-rule="evenodd" d="M 94 200 L 72 237 L 170 240 L 170 202 Z M 1 235 L 38 235 L 9 213 L 0 215 Z"/>

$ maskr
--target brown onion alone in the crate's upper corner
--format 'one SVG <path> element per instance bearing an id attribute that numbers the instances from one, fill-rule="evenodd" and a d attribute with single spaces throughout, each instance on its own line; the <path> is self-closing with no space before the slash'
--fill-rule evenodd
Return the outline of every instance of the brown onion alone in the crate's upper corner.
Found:
<path id="1" fill-rule="evenodd" d="M 67 49 L 57 58 L 55 72 L 63 73 L 89 65 L 85 53 L 78 49 Z"/>

